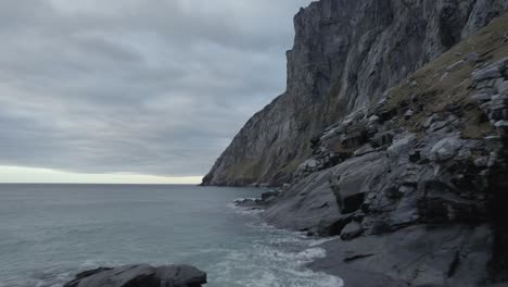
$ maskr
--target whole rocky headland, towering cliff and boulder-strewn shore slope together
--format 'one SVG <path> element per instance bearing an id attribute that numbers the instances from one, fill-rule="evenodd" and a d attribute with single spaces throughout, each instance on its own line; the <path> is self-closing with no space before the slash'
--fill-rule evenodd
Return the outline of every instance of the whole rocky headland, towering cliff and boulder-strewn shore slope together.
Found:
<path id="1" fill-rule="evenodd" d="M 309 267 L 346 287 L 507 286 L 508 1 L 403 2 L 302 10 L 287 93 L 203 184 L 279 186 L 237 203 L 336 237 Z M 378 28 L 350 26 L 357 4 Z"/>

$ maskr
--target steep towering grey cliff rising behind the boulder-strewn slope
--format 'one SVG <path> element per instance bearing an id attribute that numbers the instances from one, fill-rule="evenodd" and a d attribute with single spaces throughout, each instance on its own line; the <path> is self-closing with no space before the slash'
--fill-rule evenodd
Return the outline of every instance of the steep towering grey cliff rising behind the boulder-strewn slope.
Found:
<path id="1" fill-rule="evenodd" d="M 282 185 L 317 136 L 508 8 L 506 0 L 320 0 L 294 17 L 284 93 L 256 113 L 203 185 Z"/>

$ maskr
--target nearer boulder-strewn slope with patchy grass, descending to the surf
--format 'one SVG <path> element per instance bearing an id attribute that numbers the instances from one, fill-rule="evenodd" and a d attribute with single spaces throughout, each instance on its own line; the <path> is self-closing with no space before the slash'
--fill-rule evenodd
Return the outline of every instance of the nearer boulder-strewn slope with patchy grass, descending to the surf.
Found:
<path id="1" fill-rule="evenodd" d="M 338 236 L 345 286 L 508 285 L 508 13 L 330 125 L 270 224 Z M 262 204 L 259 204 L 262 203 Z"/>

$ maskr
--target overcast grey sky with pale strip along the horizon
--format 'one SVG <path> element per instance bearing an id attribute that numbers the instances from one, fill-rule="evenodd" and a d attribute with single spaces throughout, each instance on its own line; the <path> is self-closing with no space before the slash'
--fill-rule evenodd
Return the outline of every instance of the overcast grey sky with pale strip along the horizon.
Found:
<path id="1" fill-rule="evenodd" d="M 199 183 L 310 0 L 1 0 L 0 183 Z"/>

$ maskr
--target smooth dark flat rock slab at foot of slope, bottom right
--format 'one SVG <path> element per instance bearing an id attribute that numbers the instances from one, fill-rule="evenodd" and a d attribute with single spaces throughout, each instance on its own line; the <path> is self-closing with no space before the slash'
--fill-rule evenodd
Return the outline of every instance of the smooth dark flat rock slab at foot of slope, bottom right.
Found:
<path id="1" fill-rule="evenodd" d="M 309 267 L 339 276 L 353 287 L 475 287 L 487 276 L 491 236 L 485 225 L 417 225 L 379 236 L 335 239 L 321 246 L 327 257 Z"/>

